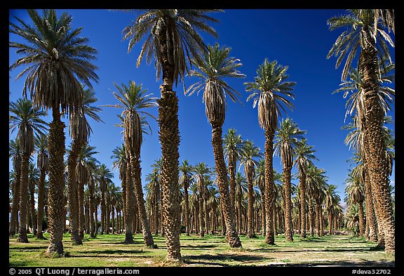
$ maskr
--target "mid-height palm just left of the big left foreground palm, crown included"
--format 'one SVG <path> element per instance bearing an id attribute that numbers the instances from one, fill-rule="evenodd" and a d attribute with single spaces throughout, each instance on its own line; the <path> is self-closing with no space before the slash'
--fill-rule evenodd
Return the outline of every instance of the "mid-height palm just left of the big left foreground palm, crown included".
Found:
<path id="1" fill-rule="evenodd" d="M 17 130 L 19 145 L 21 147 L 21 180 L 20 180 L 20 227 L 18 229 L 18 242 L 28 242 L 27 229 L 27 200 L 28 200 L 28 173 L 29 157 L 34 152 L 34 136 L 43 135 L 48 124 L 41 119 L 45 112 L 32 105 L 31 100 L 20 98 L 11 102 L 9 111 L 9 128 L 11 133 Z"/>

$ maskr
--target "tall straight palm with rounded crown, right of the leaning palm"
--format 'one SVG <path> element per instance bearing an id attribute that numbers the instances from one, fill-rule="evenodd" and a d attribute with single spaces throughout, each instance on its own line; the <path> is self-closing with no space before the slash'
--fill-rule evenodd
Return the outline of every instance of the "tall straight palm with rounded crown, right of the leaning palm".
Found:
<path id="1" fill-rule="evenodd" d="M 273 153 L 274 135 L 278 126 L 278 116 L 281 116 L 281 109 L 293 105 L 289 98 L 294 98 L 292 86 L 295 82 L 287 81 L 288 67 L 278 65 L 276 60 L 269 62 L 265 58 L 264 63 L 257 69 L 255 81 L 245 82 L 245 90 L 251 94 L 247 100 L 254 99 L 253 107 L 258 104 L 258 123 L 265 133 L 265 201 L 267 207 L 267 235 L 265 242 L 274 244 L 273 231 L 273 203 L 274 203 L 274 175 L 273 175 Z"/>

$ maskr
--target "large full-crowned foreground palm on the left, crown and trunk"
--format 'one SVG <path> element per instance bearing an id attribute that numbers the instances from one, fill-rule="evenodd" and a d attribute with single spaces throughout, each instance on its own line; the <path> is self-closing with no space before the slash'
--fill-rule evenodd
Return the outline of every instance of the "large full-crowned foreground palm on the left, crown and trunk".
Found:
<path id="1" fill-rule="evenodd" d="M 60 117 L 81 106 L 83 88 L 80 81 L 89 87 L 92 87 L 91 80 L 97 81 L 97 67 L 91 63 L 96 59 L 97 50 L 88 46 L 86 37 L 79 37 L 82 28 L 72 29 L 71 15 L 63 13 L 58 18 L 55 10 L 44 10 L 42 16 L 34 10 L 27 12 L 33 27 L 20 18 L 16 18 L 19 25 L 10 23 L 10 32 L 26 41 L 10 41 L 10 48 L 16 48 L 22 54 L 10 70 L 28 65 L 17 77 L 27 74 L 22 92 L 30 91 L 34 105 L 52 109 L 53 121 L 48 135 L 50 244 L 47 253 L 60 256 L 63 254 L 64 217 L 61 202 L 65 188 L 65 124 Z"/>

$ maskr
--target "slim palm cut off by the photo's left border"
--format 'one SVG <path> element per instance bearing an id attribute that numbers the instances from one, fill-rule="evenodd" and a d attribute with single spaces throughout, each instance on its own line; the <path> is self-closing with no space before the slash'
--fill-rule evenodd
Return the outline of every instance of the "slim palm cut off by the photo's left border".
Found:
<path id="1" fill-rule="evenodd" d="M 10 232 L 9 236 L 15 235 L 15 227 L 18 225 L 18 206 L 20 205 L 20 183 L 21 183 L 21 158 L 22 151 L 18 137 L 10 140 L 8 157 L 13 160 L 15 180 L 13 184 L 13 206 L 11 207 Z M 17 226 L 18 227 L 18 226 Z"/>

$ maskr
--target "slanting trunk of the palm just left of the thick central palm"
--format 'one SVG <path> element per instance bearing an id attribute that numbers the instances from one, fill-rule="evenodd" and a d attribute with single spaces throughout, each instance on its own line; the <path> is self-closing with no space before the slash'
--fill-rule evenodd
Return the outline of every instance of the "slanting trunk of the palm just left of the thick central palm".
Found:
<path id="1" fill-rule="evenodd" d="M 140 155 L 140 152 L 137 152 L 137 156 Z M 135 195 L 137 200 L 137 208 L 139 211 L 140 216 L 140 223 L 142 224 L 142 232 L 143 232 L 143 239 L 144 244 L 147 247 L 155 247 L 152 232 L 150 232 L 149 227 L 149 220 L 146 214 L 146 208 L 144 206 L 144 198 L 143 198 L 143 190 L 142 190 L 142 179 L 141 179 L 141 171 L 139 159 L 134 156 L 130 155 L 130 162 L 133 164 L 133 183 L 135 185 Z"/>

